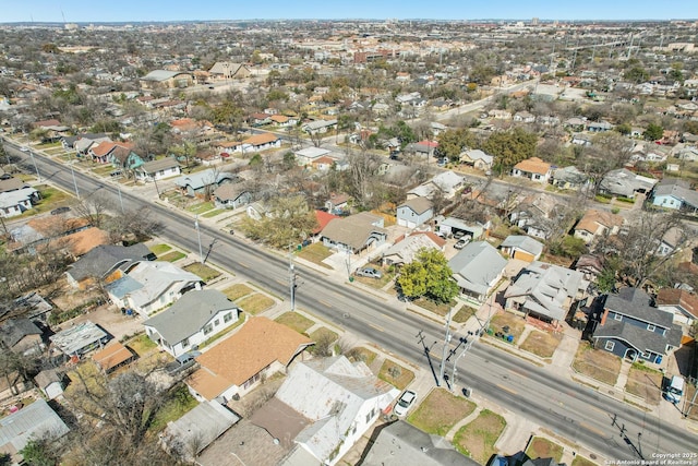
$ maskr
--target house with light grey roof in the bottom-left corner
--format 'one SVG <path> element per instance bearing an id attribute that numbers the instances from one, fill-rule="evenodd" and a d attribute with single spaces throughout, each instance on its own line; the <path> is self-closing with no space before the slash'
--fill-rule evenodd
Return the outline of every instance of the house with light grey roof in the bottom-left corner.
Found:
<path id="1" fill-rule="evenodd" d="M 0 452 L 10 455 L 9 464 L 25 464 L 20 453 L 32 440 L 56 440 L 70 432 L 46 401 L 39 398 L 0 419 Z"/>

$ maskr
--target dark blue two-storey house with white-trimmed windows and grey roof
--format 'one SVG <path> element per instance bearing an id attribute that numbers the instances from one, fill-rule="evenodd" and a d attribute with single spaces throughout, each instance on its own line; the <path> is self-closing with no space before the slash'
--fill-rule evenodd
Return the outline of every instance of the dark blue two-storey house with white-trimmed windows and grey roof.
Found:
<path id="1" fill-rule="evenodd" d="M 653 307 L 641 289 L 623 288 L 606 295 L 592 339 L 597 348 L 622 358 L 659 365 L 681 345 L 681 336 L 671 312 Z"/>

